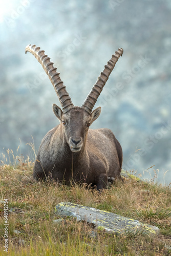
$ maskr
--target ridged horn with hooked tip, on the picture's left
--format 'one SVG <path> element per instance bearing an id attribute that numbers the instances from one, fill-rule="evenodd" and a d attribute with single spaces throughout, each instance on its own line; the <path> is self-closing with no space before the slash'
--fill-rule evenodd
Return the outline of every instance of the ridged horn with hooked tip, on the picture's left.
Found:
<path id="1" fill-rule="evenodd" d="M 56 68 L 53 67 L 53 62 L 50 61 L 50 57 L 45 54 L 45 51 L 40 50 L 40 47 L 36 47 L 35 45 L 28 45 L 25 52 L 32 53 L 38 62 L 40 62 L 55 89 L 63 112 L 68 112 L 73 107 L 73 103 L 66 90 L 66 87 L 63 85 L 63 82 L 60 79 L 60 73 L 56 72 Z"/>

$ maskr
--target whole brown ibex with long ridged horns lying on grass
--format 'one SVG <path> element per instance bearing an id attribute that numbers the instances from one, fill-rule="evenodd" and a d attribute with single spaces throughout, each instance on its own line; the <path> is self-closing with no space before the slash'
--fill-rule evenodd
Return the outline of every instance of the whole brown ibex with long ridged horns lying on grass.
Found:
<path id="1" fill-rule="evenodd" d="M 42 139 L 33 177 L 38 180 L 48 176 L 58 181 L 84 182 L 106 187 L 108 177 L 120 178 L 122 148 L 111 130 L 91 130 L 89 126 L 99 117 L 101 107 L 92 111 L 106 81 L 109 78 L 123 49 L 112 55 L 100 73 L 91 92 L 82 106 L 74 106 L 53 62 L 40 47 L 29 45 L 26 53 L 32 53 L 48 74 L 59 98 L 62 110 L 53 104 L 53 112 L 60 124 Z"/>

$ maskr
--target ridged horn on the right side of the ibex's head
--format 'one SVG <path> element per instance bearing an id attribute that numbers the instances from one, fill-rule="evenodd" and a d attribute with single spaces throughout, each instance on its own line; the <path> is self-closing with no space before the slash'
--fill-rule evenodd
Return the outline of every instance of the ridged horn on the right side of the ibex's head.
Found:
<path id="1" fill-rule="evenodd" d="M 114 69 L 116 62 L 118 61 L 119 57 L 122 56 L 122 54 L 123 54 L 123 49 L 119 48 L 118 51 L 116 51 L 115 54 L 112 55 L 112 58 L 108 61 L 108 65 L 104 66 L 103 72 L 100 73 L 91 92 L 89 93 L 86 100 L 84 101 L 84 103 L 81 106 L 87 112 L 89 112 L 89 113 L 92 112 L 92 109 L 97 101 L 98 96 L 100 95 L 101 91 L 103 90 L 103 87 L 104 87 L 106 81 L 108 80 L 112 70 Z"/>

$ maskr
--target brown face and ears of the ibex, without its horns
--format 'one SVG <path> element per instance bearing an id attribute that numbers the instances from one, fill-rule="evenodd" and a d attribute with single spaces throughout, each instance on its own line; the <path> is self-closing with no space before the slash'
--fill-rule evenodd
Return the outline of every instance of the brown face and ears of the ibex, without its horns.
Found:
<path id="1" fill-rule="evenodd" d="M 76 153 L 86 145 L 89 126 L 99 117 L 101 108 L 99 107 L 89 114 L 76 106 L 67 113 L 63 113 L 56 104 L 53 104 L 53 112 L 60 121 L 63 138 L 67 141 L 70 150 Z"/>

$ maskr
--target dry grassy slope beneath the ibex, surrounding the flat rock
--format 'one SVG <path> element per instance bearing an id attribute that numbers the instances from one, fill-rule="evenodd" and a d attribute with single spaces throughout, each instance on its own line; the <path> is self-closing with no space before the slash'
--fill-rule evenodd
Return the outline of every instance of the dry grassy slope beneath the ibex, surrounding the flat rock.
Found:
<path id="1" fill-rule="evenodd" d="M 171 189 L 153 182 L 124 178 L 101 194 L 78 185 L 35 183 L 33 164 L 2 163 L 1 255 L 170 255 Z M 8 199 L 8 253 L 4 251 L 4 203 Z M 56 204 L 69 201 L 108 210 L 160 228 L 159 237 L 140 233 L 116 236 L 96 232 L 72 219 L 54 223 Z M 19 231 L 19 232 L 18 232 Z M 170 247 L 169 247 L 170 246 Z"/>

